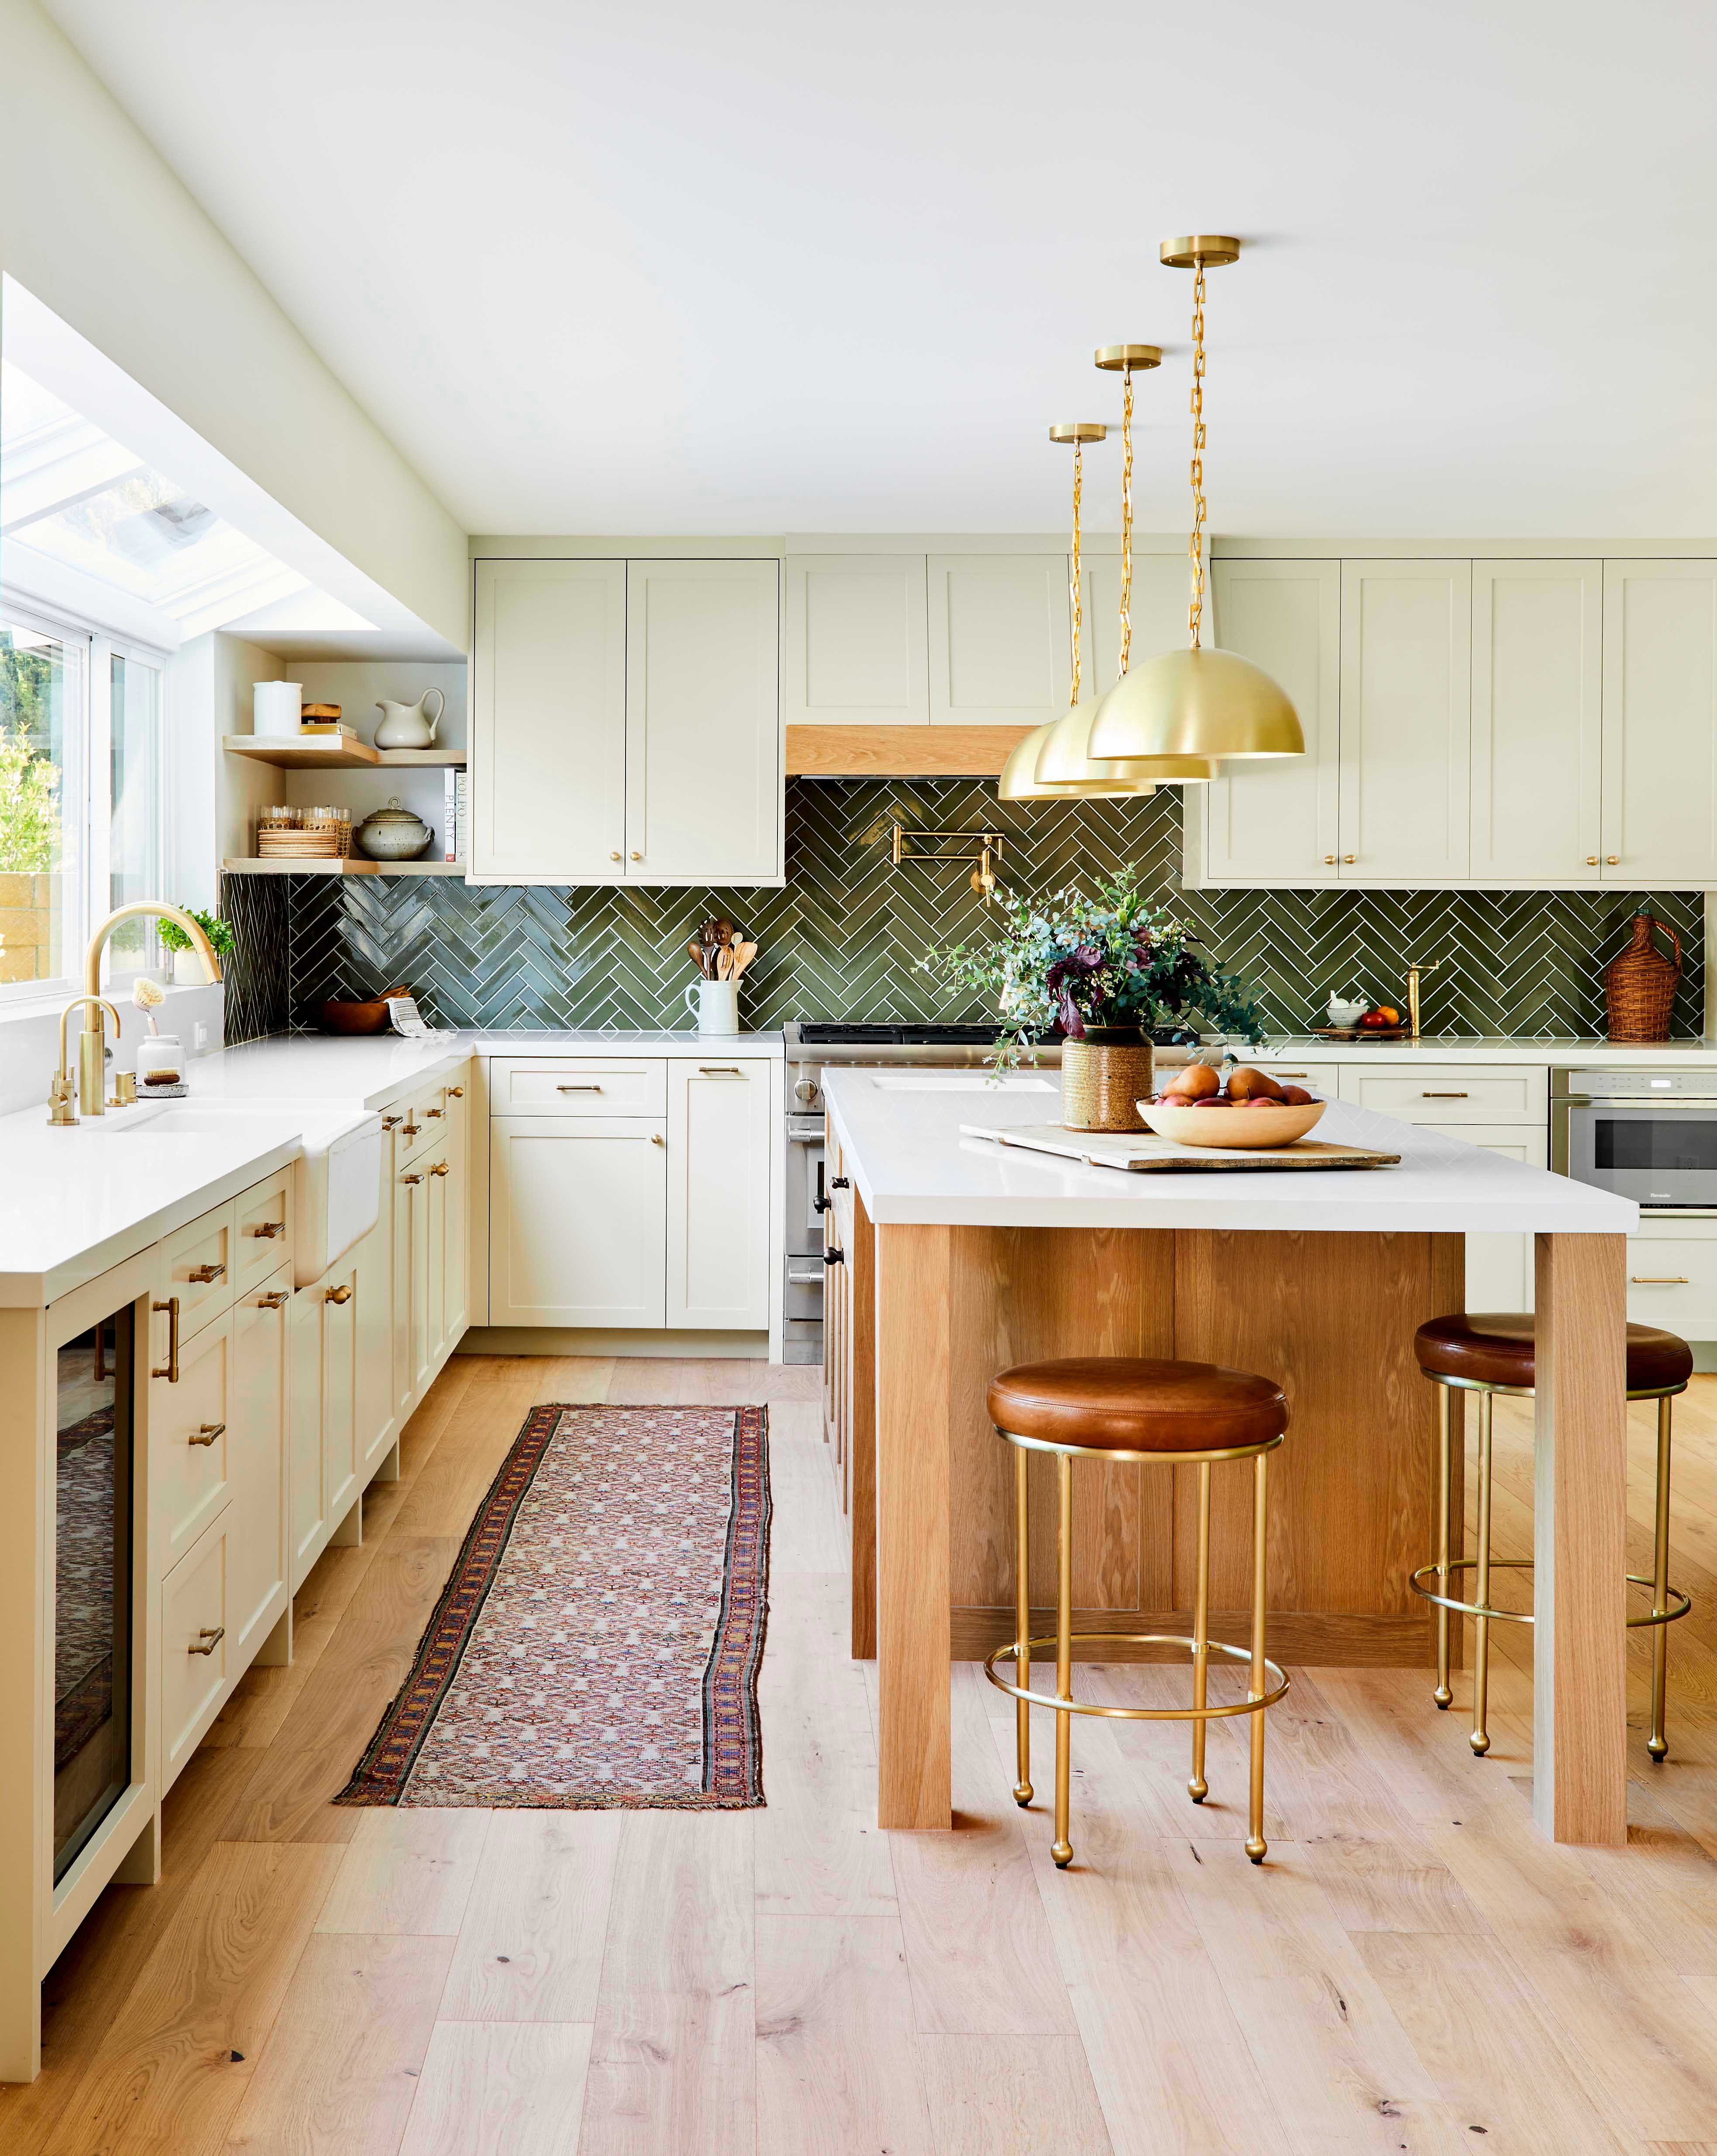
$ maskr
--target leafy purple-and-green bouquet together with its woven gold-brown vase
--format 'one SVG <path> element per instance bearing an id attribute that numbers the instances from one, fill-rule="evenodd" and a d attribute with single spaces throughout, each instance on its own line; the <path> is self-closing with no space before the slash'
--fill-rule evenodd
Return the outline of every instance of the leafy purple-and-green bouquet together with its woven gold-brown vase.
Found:
<path id="1" fill-rule="evenodd" d="M 1061 1121 L 1068 1130 L 1143 1130 L 1137 1102 L 1152 1093 L 1152 1026 L 1189 1011 L 1223 1033 L 1262 1041 L 1245 985 L 1193 949 L 1197 934 L 1152 908 L 1137 869 L 999 901 L 1001 934 L 949 944 L 919 964 L 951 987 L 994 1000 L 1005 1033 L 994 1067 L 1061 1033 Z"/>

